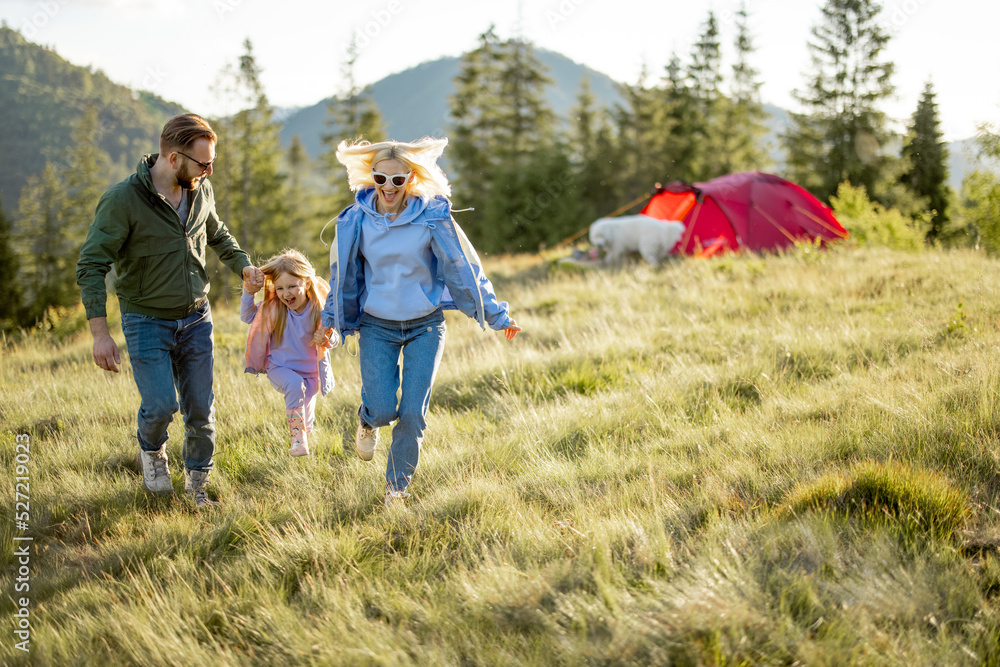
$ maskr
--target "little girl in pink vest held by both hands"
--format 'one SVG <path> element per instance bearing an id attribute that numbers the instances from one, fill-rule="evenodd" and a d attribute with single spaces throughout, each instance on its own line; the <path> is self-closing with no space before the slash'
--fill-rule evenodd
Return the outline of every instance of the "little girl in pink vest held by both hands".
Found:
<path id="1" fill-rule="evenodd" d="M 334 383 L 329 344 L 317 335 L 330 286 L 298 250 L 284 250 L 260 270 L 264 300 L 254 304 L 260 287 L 249 282 L 243 283 L 240 298 L 240 319 L 250 325 L 246 372 L 266 372 L 271 385 L 285 395 L 292 441 L 288 453 L 308 456 L 317 391 L 326 395 Z"/>

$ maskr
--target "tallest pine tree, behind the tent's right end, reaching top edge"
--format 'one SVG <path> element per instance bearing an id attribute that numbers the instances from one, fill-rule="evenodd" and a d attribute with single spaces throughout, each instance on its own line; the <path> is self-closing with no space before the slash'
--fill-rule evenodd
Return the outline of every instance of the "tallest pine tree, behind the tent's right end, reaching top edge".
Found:
<path id="1" fill-rule="evenodd" d="M 806 113 L 794 113 L 785 137 L 788 168 L 821 199 L 838 184 L 864 186 L 875 199 L 889 135 L 878 104 L 893 92 L 894 66 L 883 61 L 889 36 L 878 23 L 875 0 L 827 0 L 814 26 L 813 74 L 796 99 Z"/>

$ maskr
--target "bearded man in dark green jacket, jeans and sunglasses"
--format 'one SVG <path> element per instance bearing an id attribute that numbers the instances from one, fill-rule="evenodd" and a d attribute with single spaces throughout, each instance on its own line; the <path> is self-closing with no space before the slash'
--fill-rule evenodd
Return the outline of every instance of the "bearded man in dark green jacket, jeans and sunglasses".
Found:
<path id="1" fill-rule="evenodd" d="M 218 505 L 205 490 L 215 453 L 205 247 L 251 284 L 264 280 L 215 212 L 207 179 L 216 139 L 200 116 L 171 118 L 160 135 L 160 152 L 144 156 L 135 174 L 101 197 L 76 268 L 94 362 L 117 373 L 121 357 L 108 332 L 104 284 L 115 267 L 122 330 L 142 399 L 136 435 L 143 485 L 150 493 L 173 492 L 166 441 L 179 398 L 184 490 L 199 507 Z"/>

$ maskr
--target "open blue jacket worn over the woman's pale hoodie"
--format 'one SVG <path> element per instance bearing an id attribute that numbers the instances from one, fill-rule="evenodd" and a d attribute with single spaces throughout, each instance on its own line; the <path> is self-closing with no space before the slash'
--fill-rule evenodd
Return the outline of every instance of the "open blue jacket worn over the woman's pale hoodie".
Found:
<path id="1" fill-rule="evenodd" d="M 324 326 L 343 338 L 357 333 L 361 326 L 361 302 L 365 294 L 365 261 L 358 254 L 361 221 L 373 201 L 374 189 L 358 192 L 358 202 L 348 206 L 337 217 L 337 232 L 330 245 L 330 294 L 323 308 Z M 441 308 L 458 310 L 479 322 L 500 331 L 510 326 L 509 306 L 497 302 L 493 285 L 483 273 L 479 255 L 469 243 L 465 232 L 451 217 L 451 203 L 445 197 L 435 197 L 409 224 L 427 225 L 431 231 L 431 251 L 436 260 L 435 280 L 444 283 Z M 393 267 L 373 267 L 393 270 Z"/>

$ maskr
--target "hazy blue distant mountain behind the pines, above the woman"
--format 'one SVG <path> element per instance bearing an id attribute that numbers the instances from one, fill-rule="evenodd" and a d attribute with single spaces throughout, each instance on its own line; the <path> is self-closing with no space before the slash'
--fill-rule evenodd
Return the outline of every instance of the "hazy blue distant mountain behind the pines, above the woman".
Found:
<path id="1" fill-rule="evenodd" d="M 546 98 L 557 118 L 569 116 L 584 77 L 590 79 L 595 105 L 611 108 L 621 101 L 614 80 L 606 74 L 553 51 L 536 49 L 535 55 L 548 67 L 547 74 L 553 80 L 546 89 Z M 371 96 L 382 113 L 389 136 L 409 141 L 444 135 L 448 126 L 448 97 L 455 92 L 454 80 L 460 70 L 459 58 L 441 58 L 373 83 Z M 292 137 L 298 135 L 310 156 L 315 158 L 326 151 L 322 136 L 332 130 L 326 125 L 327 105 L 331 100 L 326 98 L 288 116 L 281 130 L 282 143 L 288 146 Z"/>

